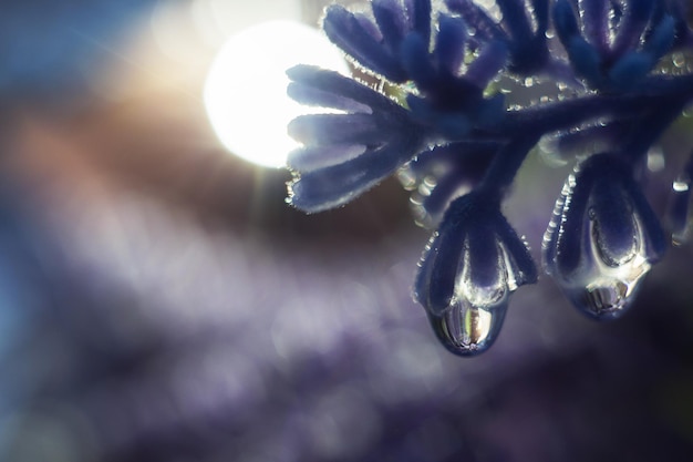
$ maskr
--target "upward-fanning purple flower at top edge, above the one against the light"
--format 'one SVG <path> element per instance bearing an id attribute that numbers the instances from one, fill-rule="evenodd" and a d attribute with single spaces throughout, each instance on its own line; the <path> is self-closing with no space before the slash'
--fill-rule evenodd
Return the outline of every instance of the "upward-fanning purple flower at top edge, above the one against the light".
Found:
<path id="1" fill-rule="evenodd" d="M 463 18 L 439 13 L 432 47 L 430 0 L 374 0 L 371 7 L 375 22 L 329 7 L 325 33 L 366 71 L 414 83 L 417 92 L 407 94 L 406 104 L 418 123 L 455 137 L 499 120 L 503 95 L 485 97 L 484 90 L 506 65 L 507 40 L 475 42 Z"/>

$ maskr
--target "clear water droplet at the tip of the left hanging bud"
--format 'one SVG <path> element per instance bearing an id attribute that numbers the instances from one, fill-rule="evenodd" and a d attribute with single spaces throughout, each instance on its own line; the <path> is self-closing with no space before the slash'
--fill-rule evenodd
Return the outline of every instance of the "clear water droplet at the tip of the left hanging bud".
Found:
<path id="1" fill-rule="evenodd" d="M 508 307 L 508 297 L 487 308 L 458 299 L 442 316 L 430 315 L 434 332 L 455 355 L 474 356 L 486 351 L 496 340 Z"/>

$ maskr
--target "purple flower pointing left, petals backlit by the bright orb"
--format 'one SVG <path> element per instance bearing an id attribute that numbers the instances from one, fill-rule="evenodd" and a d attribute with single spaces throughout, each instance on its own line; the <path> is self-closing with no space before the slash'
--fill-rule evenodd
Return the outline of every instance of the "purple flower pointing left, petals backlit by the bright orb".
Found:
<path id="1" fill-rule="evenodd" d="M 389 97 L 335 72 L 289 70 L 289 94 L 341 111 L 294 119 L 289 134 L 303 143 L 288 158 L 294 172 L 289 201 L 320 212 L 353 199 L 423 150 L 426 132 Z"/>

